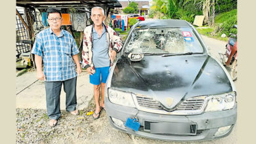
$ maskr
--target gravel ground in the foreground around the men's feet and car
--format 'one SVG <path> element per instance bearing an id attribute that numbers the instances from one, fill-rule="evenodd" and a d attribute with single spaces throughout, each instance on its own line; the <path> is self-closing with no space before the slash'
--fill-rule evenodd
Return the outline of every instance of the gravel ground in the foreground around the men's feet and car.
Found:
<path id="1" fill-rule="evenodd" d="M 161 141 L 146 137 L 126 134 L 112 128 L 106 117 L 106 112 L 101 111 L 100 118 L 93 120 L 86 113 L 95 109 L 92 98 L 86 109 L 80 110 L 75 116 L 66 111 L 61 111 L 62 116 L 53 128 L 47 122 L 47 111 L 44 109 L 16 109 L 16 143 L 172 143 L 188 144 L 191 142 Z M 234 143 L 234 137 L 229 136 L 216 141 L 200 141 L 192 143 Z M 232 139 L 232 140 L 230 140 Z"/>

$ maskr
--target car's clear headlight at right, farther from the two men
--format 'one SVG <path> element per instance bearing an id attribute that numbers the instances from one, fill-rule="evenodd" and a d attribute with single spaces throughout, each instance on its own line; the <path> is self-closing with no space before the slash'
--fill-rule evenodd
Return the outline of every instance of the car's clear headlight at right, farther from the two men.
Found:
<path id="1" fill-rule="evenodd" d="M 233 109 L 236 104 L 236 92 L 207 96 L 205 111 L 223 111 Z"/>

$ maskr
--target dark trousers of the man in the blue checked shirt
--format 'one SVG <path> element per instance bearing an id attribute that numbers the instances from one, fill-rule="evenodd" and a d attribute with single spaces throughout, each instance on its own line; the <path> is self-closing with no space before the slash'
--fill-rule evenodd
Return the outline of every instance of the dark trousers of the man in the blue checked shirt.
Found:
<path id="1" fill-rule="evenodd" d="M 51 119 L 60 118 L 60 91 L 62 84 L 66 92 L 66 111 L 75 111 L 76 101 L 76 80 L 68 79 L 66 81 L 45 81 L 47 115 Z"/>

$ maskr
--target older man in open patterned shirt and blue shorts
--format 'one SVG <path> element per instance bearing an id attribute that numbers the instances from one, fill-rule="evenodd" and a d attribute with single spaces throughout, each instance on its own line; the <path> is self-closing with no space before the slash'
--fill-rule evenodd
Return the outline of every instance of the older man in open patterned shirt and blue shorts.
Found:
<path id="1" fill-rule="evenodd" d="M 85 28 L 83 37 L 83 63 L 82 67 L 90 74 L 90 83 L 93 84 L 96 109 L 93 118 L 100 117 L 104 108 L 104 88 L 110 65 L 116 59 L 116 53 L 121 50 L 121 38 L 116 32 L 103 24 L 105 19 L 104 9 L 93 7 L 91 9 L 93 25 Z M 101 87 L 101 101 L 100 98 Z"/>

